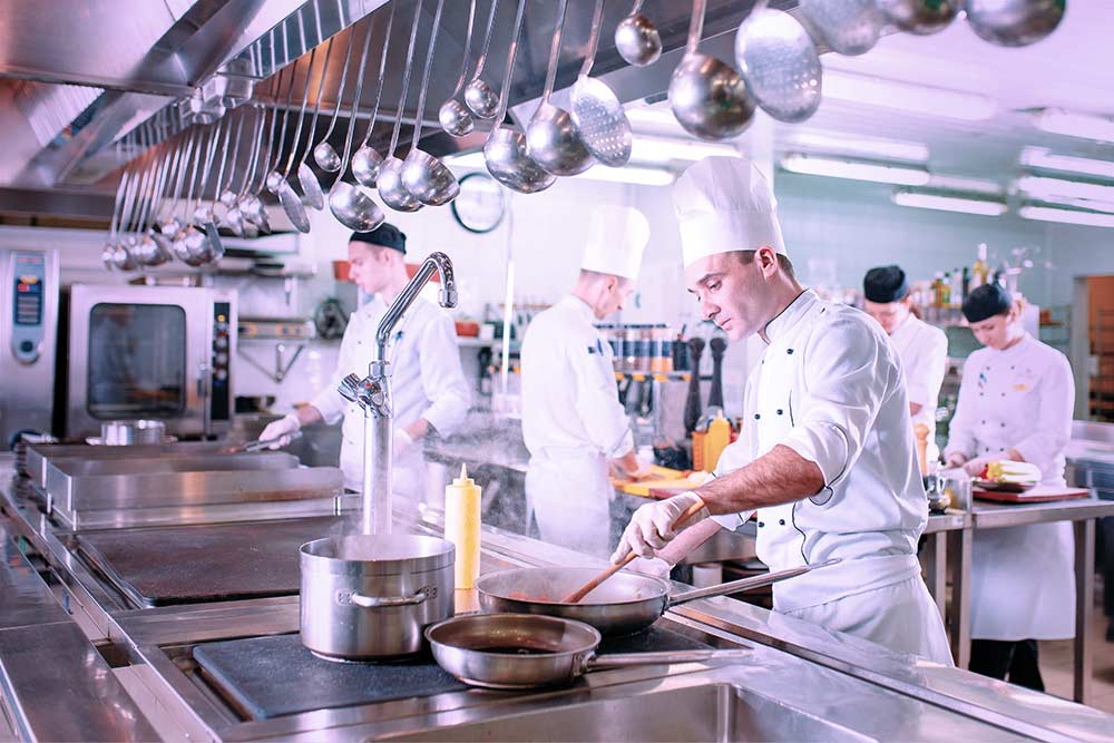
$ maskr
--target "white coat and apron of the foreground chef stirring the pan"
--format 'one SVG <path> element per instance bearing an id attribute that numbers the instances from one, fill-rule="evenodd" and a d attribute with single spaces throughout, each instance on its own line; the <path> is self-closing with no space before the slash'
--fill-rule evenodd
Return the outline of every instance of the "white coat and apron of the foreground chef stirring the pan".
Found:
<path id="1" fill-rule="evenodd" d="M 928 501 L 901 365 L 881 326 L 803 292 L 765 327 L 746 382 L 743 430 L 723 476 L 784 444 L 814 462 L 824 489 L 759 509 L 758 555 L 771 570 L 842 563 L 773 586 L 774 609 L 950 664 L 939 612 L 920 577 Z M 751 514 L 717 516 L 737 528 Z"/>

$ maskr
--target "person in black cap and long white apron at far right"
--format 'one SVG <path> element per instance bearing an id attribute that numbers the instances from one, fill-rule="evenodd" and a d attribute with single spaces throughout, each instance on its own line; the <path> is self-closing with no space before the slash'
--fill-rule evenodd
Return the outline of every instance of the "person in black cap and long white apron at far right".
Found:
<path id="1" fill-rule="evenodd" d="M 1029 335 L 999 284 L 979 286 L 964 315 L 985 348 L 967 358 L 944 451 L 978 475 L 987 462 L 1035 465 L 1042 485 L 1064 481 L 1075 383 L 1067 358 Z M 1075 542 L 1067 521 L 975 532 L 970 669 L 1044 690 L 1038 639 L 1075 636 Z"/>

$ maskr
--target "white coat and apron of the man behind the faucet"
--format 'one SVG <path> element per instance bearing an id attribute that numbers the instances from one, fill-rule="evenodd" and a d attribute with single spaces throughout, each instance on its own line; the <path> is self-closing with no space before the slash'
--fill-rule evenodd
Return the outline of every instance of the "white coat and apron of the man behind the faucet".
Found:
<path id="1" fill-rule="evenodd" d="M 363 408 L 349 402 L 336 391 L 348 374 L 368 375 L 368 364 L 375 359 L 375 330 L 388 310 L 377 295 L 352 313 L 336 372 L 329 387 L 313 399 L 326 423 L 341 416 L 341 470 L 344 486 L 362 490 L 363 482 Z M 424 418 L 441 436 L 449 436 L 465 420 L 470 403 L 468 382 L 460 366 L 457 334 L 452 320 L 432 302 L 419 296 L 394 329 L 387 350 L 391 362 L 391 398 L 395 430 Z M 405 504 L 417 512 L 424 495 L 426 467 L 421 442 L 395 454 L 392 462 L 392 489 L 395 505 Z M 401 497 L 401 498 L 400 498 Z M 402 502 L 400 502 L 402 501 Z"/>

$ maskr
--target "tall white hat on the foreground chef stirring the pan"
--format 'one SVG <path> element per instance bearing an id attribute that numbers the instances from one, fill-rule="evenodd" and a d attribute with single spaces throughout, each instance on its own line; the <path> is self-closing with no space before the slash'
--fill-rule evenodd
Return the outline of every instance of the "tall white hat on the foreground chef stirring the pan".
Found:
<path id="1" fill-rule="evenodd" d="M 685 266 L 716 253 L 762 246 L 785 254 L 778 202 L 754 164 L 737 157 L 705 157 L 673 186 Z"/>

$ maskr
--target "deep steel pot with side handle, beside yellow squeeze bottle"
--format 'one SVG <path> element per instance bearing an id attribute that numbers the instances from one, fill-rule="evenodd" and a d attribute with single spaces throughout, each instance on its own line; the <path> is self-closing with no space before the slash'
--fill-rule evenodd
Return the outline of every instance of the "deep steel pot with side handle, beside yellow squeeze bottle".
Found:
<path id="1" fill-rule="evenodd" d="M 302 644 L 330 661 L 422 649 L 422 630 L 452 616 L 456 549 L 437 537 L 326 537 L 302 545 Z"/>

